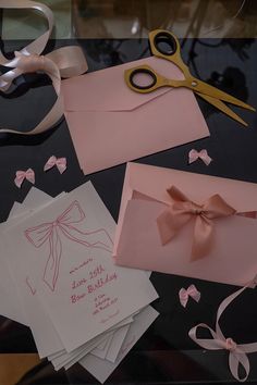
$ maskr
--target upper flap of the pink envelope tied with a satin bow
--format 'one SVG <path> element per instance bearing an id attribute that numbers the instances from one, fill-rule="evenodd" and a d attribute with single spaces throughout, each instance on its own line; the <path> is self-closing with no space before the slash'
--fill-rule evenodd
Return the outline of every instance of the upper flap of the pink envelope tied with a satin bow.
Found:
<path id="1" fill-rule="evenodd" d="M 257 185 L 223 177 L 195 174 L 172 169 L 130 163 L 127 166 L 128 189 L 170 203 L 167 188 L 178 187 L 188 199 L 204 203 L 219 194 L 238 212 L 257 210 Z"/>

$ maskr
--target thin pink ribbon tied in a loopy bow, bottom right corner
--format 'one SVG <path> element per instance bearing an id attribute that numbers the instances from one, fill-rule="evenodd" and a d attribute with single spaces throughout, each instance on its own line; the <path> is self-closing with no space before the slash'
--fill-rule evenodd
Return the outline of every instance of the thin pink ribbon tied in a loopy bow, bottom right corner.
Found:
<path id="1" fill-rule="evenodd" d="M 213 331 L 205 323 L 199 323 L 198 325 L 194 326 L 189 332 L 189 337 L 198 344 L 204 349 L 208 350 L 220 350 L 225 349 L 229 351 L 229 367 L 231 370 L 232 375 L 240 382 L 246 381 L 249 374 L 249 360 L 246 353 L 257 351 L 257 343 L 253 344 L 236 344 L 232 338 L 225 338 L 223 333 L 221 332 L 219 320 L 225 310 L 225 308 L 247 287 L 255 287 L 256 286 L 256 277 L 248 285 L 242 287 L 231 296 L 227 297 L 221 305 L 219 306 L 217 312 L 217 320 L 216 320 L 216 330 Z M 207 328 L 210 332 L 212 338 L 198 338 L 196 336 L 198 327 Z M 245 376 L 240 378 L 240 364 L 244 368 Z"/>

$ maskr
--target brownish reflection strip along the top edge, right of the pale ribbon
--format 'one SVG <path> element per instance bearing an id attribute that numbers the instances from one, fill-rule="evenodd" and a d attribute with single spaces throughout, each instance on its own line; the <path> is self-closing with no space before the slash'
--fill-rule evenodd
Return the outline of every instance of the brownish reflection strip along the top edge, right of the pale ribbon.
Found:
<path id="1" fill-rule="evenodd" d="M 166 28 L 179 37 L 255 37 L 253 0 L 74 0 L 73 24 L 81 38 L 147 37 Z"/>

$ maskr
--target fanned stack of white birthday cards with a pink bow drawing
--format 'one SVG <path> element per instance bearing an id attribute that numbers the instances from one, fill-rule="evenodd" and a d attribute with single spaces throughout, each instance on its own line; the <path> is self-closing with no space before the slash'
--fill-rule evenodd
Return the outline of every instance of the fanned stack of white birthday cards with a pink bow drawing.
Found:
<path id="1" fill-rule="evenodd" d="M 101 383 L 158 315 L 147 273 L 113 264 L 114 228 L 90 183 L 54 199 L 32 188 L 1 224 L 0 313 L 56 370 L 79 362 Z"/>

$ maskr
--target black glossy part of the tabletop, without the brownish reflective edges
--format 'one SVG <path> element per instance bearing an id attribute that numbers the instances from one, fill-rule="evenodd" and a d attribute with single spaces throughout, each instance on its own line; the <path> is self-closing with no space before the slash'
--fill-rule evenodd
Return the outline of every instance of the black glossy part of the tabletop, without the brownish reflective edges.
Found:
<path id="1" fill-rule="evenodd" d="M 257 40 L 187 39 L 182 42 L 183 59 L 189 64 L 193 74 L 252 105 L 257 105 Z M 25 41 L 9 41 L 4 49 L 12 51 L 25 44 Z M 71 41 L 62 40 L 57 46 L 66 44 Z M 147 39 L 93 39 L 79 40 L 79 44 L 87 57 L 89 71 L 150 54 Z M 20 78 L 14 95 L 0 95 L 0 125 L 24 131 L 39 122 L 54 100 L 52 87 L 45 76 L 27 75 L 25 79 Z M 197 101 L 207 120 L 211 136 L 146 157 L 138 162 L 257 183 L 256 113 L 232 107 L 248 122 L 248 128 L 244 128 L 208 103 L 200 99 Z M 113 218 L 118 219 L 125 165 L 89 177 L 84 176 L 64 120 L 57 129 L 38 137 L 20 138 L 2 135 L 0 147 L 0 179 L 2 181 L 0 218 L 2 221 L 7 219 L 13 201 L 22 201 L 29 188 L 28 185 L 24 185 L 19 190 L 14 186 L 15 171 L 32 165 L 36 173 L 36 187 L 53 196 L 62 190 L 72 190 L 90 179 Z M 192 165 L 187 164 L 187 153 L 192 148 L 208 150 L 213 159 L 208 167 L 200 161 Z M 68 158 L 69 167 L 62 176 L 54 171 L 47 174 L 42 172 L 42 165 L 51 154 Z M 160 315 L 107 383 L 234 383 L 228 365 L 227 351 L 203 351 L 189 339 L 188 330 L 199 322 L 215 327 L 218 306 L 235 290 L 235 287 L 160 273 L 152 273 L 151 282 L 160 296 L 154 303 Z M 198 305 L 188 301 L 187 308 L 184 309 L 179 303 L 178 293 L 181 287 L 188 287 L 192 283 L 201 291 L 201 300 Z M 247 290 L 227 309 L 221 319 L 221 327 L 225 336 L 241 344 L 257 341 L 256 303 L 257 291 Z M 0 352 L 32 351 L 36 351 L 36 348 L 29 330 L 1 318 Z M 256 384 L 257 353 L 249 355 L 249 360 L 248 383 Z M 27 373 L 21 381 L 22 385 L 96 383 L 96 380 L 78 364 L 68 372 L 56 373 L 47 361 Z"/>

